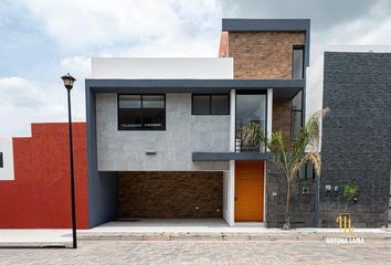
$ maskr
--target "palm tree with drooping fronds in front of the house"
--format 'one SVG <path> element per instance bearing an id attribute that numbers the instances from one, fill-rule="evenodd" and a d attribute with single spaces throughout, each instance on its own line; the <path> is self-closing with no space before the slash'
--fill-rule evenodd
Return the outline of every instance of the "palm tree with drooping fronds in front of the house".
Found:
<path id="1" fill-rule="evenodd" d="M 318 176 L 321 170 L 321 159 L 317 145 L 319 139 L 319 121 L 323 116 L 328 113 L 329 108 L 324 108 L 315 113 L 308 123 L 302 128 L 293 147 L 288 147 L 284 142 L 283 132 L 273 132 L 268 139 L 264 129 L 258 125 L 249 124 L 244 126 L 240 136 L 244 145 L 252 145 L 258 150 L 262 146 L 266 146 L 273 155 L 275 165 L 283 171 L 286 179 L 286 211 L 285 224 L 283 230 L 290 229 L 290 200 L 292 186 L 298 172 L 307 162 L 313 167 Z"/>

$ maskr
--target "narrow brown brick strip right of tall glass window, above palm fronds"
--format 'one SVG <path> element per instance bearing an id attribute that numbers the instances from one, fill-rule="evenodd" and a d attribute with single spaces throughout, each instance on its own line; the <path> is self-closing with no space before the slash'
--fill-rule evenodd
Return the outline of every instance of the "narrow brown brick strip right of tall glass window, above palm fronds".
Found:
<path id="1" fill-rule="evenodd" d="M 284 142 L 288 147 L 294 145 L 290 141 L 290 102 L 277 100 L 273 103 L 273 131 L 283 131 Z"/>

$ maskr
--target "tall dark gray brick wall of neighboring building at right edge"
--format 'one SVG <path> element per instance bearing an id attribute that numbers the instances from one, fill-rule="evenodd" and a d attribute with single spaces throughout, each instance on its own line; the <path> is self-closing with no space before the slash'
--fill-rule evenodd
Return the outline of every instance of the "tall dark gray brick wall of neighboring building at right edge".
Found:
<path id="1" fill-rule="evenodd" d="M 319 225 L 336 227 L 338 212 L 351 212 L 353 226 L 387 223 L 391 163 L 391 54 L 325 53 L 323 176 Z M 342 195 L 357 181 L 357 203 Z M 339 192 L 325 192 L 325 186 Z"/>

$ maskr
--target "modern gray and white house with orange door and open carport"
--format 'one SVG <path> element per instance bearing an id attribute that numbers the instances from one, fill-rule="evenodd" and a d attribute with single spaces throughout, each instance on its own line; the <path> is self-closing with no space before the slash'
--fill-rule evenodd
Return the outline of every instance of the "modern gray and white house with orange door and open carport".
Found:
<path id="1" fill-rule="evenodd" d="M 93 59 L 89 226 L 114 219 L 276 223 L 271 155 L 240 132 L 252 124 L 295 140 L 309 28 L 309 20 L 228 19 L 215 59 Z"/>

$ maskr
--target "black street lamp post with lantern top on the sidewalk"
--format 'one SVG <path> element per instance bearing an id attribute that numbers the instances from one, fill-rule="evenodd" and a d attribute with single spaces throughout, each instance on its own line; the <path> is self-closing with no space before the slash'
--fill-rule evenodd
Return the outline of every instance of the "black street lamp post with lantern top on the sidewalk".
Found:
<path id="1" fill-rule="evenodd" d="M 67 92 L 67 117 L 70 130 L 70 158 L 71 158 L 71 209 L 72 209 L 72 239 L 73 248 L 77 248 L 76 239 L 76 210 L 75 210 L 75 176 L 73 167 L 73 139 L 72 139 L 72 115 L 71 115 L 71 89 L 76 81 L 70 73 L 61 77 Z"/>

